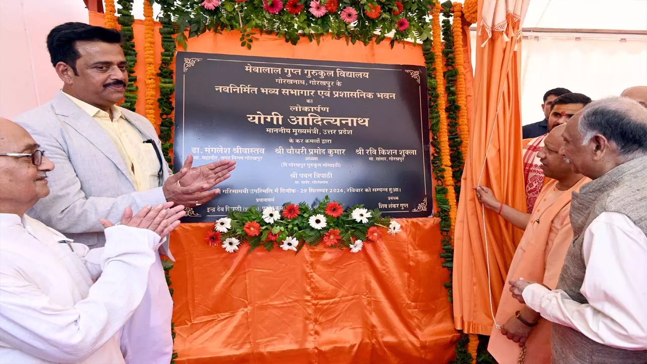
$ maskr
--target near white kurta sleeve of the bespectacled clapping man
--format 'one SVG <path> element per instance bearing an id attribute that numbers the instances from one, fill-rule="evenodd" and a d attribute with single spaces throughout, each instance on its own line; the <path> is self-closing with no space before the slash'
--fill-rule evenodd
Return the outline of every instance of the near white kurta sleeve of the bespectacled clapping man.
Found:
<path id="1" fill-rule="evenodd" d="M 78 363 L 115 336 L 142 301 L 160 237 L 149 230 L 105 230 L 102 275 L 74 306 L 50 301 L 19 271 L 0 279 L 0 341 L 47 361 Z"/>

